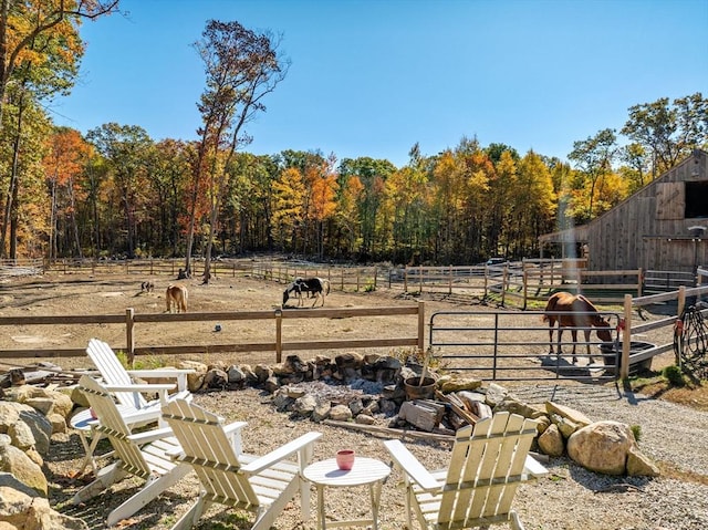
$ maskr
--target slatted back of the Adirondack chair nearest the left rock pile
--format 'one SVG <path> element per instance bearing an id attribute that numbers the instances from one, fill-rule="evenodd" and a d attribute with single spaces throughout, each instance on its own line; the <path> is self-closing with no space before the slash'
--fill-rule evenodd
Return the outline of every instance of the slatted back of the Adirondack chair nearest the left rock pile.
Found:
<path id="1" fill-rule="evenodd" d="M 88 375 L 81 377 L 79 388 L 85 394 L 91 408 L 98 417 L 101 425 L 97 428 L 111 440 L 116 457 L 123 463 L 122 467 L 133 475 L 147 479 L 150 476 L 150 467 L 140 448 L 127 438 L 132 434 L 131 429 L 123 419 L 113 396 L 101 383 Z"/>

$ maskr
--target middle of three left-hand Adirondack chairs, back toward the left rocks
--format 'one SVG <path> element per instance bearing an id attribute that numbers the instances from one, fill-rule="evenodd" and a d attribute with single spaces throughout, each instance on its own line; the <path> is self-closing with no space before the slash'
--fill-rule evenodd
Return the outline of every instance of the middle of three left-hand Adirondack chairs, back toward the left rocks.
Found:
<path id="1" fill-rule="evenodd" d="M 145 480 L 139 491 L 108 513 L 106 526 L 112 527 L 133 516 L 191 469 L 167 456 L 168 451 L 179 449 L 177 440 L 169 437 L 168 428 L 140 434 L 131 432 L 111 392 L 121 392 L 123 387 L 103 386 L 88 375 L 81 377 L 79 387 L 101 418 L 94 423 L 93 428 L 111 440 L 116 460 L 100 469 L 96 479 L 82 488 L 72 502 L 85 502 L 128 475 Z"/>

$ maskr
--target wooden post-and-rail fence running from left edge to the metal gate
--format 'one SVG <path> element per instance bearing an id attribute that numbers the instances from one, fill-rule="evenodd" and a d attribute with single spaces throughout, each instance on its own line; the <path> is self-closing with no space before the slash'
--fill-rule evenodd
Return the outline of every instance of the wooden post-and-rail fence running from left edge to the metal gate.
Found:
<path id="1" fill-rule="evenodd" d="M 356 340 L 331 341 L 303 341 L 289 342 L 283 336 L 282 323 L 291 319 L 351 319 L 362 316 L 387 318 L 394 315 L 412 315 L 417 319 L 417 334 L 402 337 L 371 337 Z M 273 340 L 259 343 L 231 343 L 231 344 L 168 344 L 160 346 L 138 346 L 136 335 L 139 324 L 146 323 L 179 323 L 179 322 L 227 322 L 227 321 L 272 321 Z M 135 355 L 154 354 L 190 354 L 190 353 L 230 353 L 230 352 L 274 352 L 275 362 L 282 361 L 283 352 L 302 350 L 342 350 L 342 349 L 369 349 L 369 347 L 400 347 L 415 346 L 418 351 L 425 350 L 425 303 L 417 305 L 400 305 L 388 308 L 347 308 L 347 309 L 298 309 L 274 311 L 237 311 L 237 312 L 209 312 L 209 313 L 148 313 L 137 314 L 133 309 L 127 309 L 125 314 L 104 315 L 62 315 L 62 316 L 0 316 L 0 326 L 6 325 L 42 325 L 42 324 L 123 324 L 125 325 L 125 347 L 129 362 Z M 395 329 L 395 328 L 394 328 Z M 0 358 L 28 358 L 28 357 L 75 357 L 84 356 L 85 346 L 79 349 L 31 349 L 31 350 L 1 350 Z"/>

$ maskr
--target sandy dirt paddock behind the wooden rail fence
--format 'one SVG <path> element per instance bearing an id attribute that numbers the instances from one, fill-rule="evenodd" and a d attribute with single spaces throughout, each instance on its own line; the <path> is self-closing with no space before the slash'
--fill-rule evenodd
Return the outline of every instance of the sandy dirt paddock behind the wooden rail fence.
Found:
<path id="1" fill-rule="evenodd" d="M 152 282 L 152 292 L 143 289 L 144 282 Z M 42 276 L 11 277 L 0 281 L 0 315 L 123 315 L 132 308 L 136 315 L 163 313 L 166 308 L 166 290 L 170 283 L 180 283 L 189 292 L 188 312 L 230 312 L 230 311 L 274 311 L 281 308 L 284 284 L 251 278 L 212 279 L 208 285 L 200 280 L 175 281 L 168 277 L 142 276 L 80 276 L 44 273 Z M 303 306 L 309 308 L 314 299 L 305 298 Z M 400 290 L 378 289 L 373 292 L 342 292 L 332 290 L 325 299 L 326 309 L 344 308 L 381 308 L 410 306 L 418 303 L 414 297 L 405 295 Z M 317 305 L 320 302 L 317 302 Z M 428 344 L 428 325 L 430 315 L 445 311 L 473 311 L 492 313 L 499 308 L 483 304 L 460 304 L 445 301 L 425 300 L 426 344 Z M 296 312 L 296 301 L 289 300 L 285 311 Z M 513 315 L 516 313 L 516 316 Z M 646 315 L 646 312 L 645 312 Z M 485 315 L 476 316 L 483 321 Z M 459 320 L 459 319 L 458 319 Z M 521 329 L 508 333 L 503 340 L 523 344 L 525 351 L 533 355 L 548 352 L 548 331 L 538 315 L 524 312 L 512 312 L 508 322 L 516 322 Z M 447 324 L 447 323 L 446 323 Z M 481 323 L 480 325 L 489 325 Z M 500 324 L 506 325 L 506 324 Z M 537 328 L 537 329 L 533 329 Z M 123 349 L 126 344 L 125 324 L 33 324 L 12 325 L 0 334 L 0 361 L 11 357 L 12 350 L 46 350 L 46 357 L 25 360 L 25 364 L 34 361 L 50 361 L 62 367 L 83 366 L 85 357 L 56 358 L 53 349 L 83 349 L 93 336 L 108 342 L 114 349 Z M 666 335 L 669 329 L 658 331 Z M 487 333 L 489 334 L 489 333 Z M 347 319 L 287 319 L 283 321 L 282 335 L 284 342 L 303 342 L 310 340 L 356 340 L 376 337 L 415 337 L 417 335 L 417 316 L 386 315 L 357 316 Z M 460 339 L 479 340 L 482 332 L 468 332 Z M 202 362 L 222 361 L 231 364 L 272 364 L 273 352 L 246 353 L 208 353 L 210 344 L 267 343 L 273 342 L 275 328 L 272 320 L 246 320 L 227 322 L 177 322 L 177 323 L 138 323 L 134 329 L 136 346 L 157 345 L 204 345 L 204 351 L 183 355 L 179 358 L 199 360 Z M 669 335 L 670 336 L 670 335 Z M 655 342 L 667 342 L 666 336 L 655 337 Z M 489 341 L 489 339 L 485 339 Z M 570 341 L 566 332 L 564 341 Z M 493 339 L 491 340 L 493 342 Z M 391 347 L 367 349 L 379 354 L 391 354 Z M 398 349 L 400 350 L 400 349 Z M 570 346 L 565 346 L 570 353 Z M 582 346 L 581 346 L 582 350 Z M 205 353 L 207 352 L 207 353 Z M 322 353 L 335 355 L 342 351 L 303 351 L 296 352 L 305 358 Z M 514 352 L 516 353 L 516 352 Z M 150 362 L 169 364 L 176 361 L 156 358 Z M 540 361 L 537 360 L 538 363 Z M 581 364 L 583 361 L 581 358 Z M 657 360 L 662 363 L 664 361 Z M 1 370 L 1 367 L 0 367 Z"/>

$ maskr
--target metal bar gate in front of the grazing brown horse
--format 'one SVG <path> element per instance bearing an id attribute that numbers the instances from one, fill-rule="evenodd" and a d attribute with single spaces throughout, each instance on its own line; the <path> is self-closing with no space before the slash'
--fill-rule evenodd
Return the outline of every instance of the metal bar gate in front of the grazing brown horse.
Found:
<path id="1" fill-rule="evenodd" d="M 574 380 L 604 383 L 618 377 L 620 314 L 600 314 L 610 322 L 612 343 L 603 343 L 594 328 L 571 328 L 562 334 L 563 355 L 550 353 L 549 325 L 542 311 L 437 311 L 430 315 L 429 346 L 439 368 L 465 371 L 488 381 Z M 555 313 L 549 313 L 555 314 Z M 558 314 L 561 314 L 560 312 Z M 569 314 L 568 312 L 563 314 Z M 585 313 L 574 313 L 582 315 Z M 585 341 L 585 331 L 591 332 Z M 571 351 L 576 349 L 576 362 Z M 553 329 L 553 351 L 558 326 Z"/>

